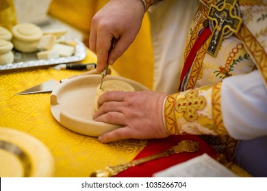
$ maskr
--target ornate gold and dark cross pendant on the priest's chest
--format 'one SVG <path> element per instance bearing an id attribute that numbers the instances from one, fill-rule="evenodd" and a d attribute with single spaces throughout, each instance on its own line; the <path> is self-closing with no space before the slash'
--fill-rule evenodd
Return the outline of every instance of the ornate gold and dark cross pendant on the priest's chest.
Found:
<path id="1" fill-rule="evenodd" d="M 207 53 L 216 57 L 223 39 L 238 33 L 242 18 L 237 0 L 220 0 L 209 8 L 209 27 L 212 30 L 212 39 L 209 42 Z"/>

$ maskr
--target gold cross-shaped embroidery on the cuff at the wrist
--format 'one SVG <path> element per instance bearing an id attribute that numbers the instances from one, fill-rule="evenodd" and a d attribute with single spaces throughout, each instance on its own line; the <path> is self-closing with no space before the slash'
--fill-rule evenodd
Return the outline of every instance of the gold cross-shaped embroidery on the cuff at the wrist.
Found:
<path id="1" fill-rule="evenodd" d="M 183 113 L 183 117 L 188 121 L 194 121 L 197 119 L 198 114 L 196 111 L 203 110 L 206 105 L 206 100 L 204 96 L 197 96 L 198 91 L 192 89 L 186 93 L 185 98 L 177 100 L 176 110 L 179 113 Z"/>

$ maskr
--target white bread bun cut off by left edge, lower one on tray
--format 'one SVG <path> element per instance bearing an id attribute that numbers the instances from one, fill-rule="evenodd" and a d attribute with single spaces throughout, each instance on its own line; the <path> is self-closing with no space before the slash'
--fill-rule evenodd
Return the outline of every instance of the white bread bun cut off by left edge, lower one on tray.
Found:
<path id="1" fill-rule="evenodd" d="M 14 61 L 12 48 L 13 44 L 11 42 L 0 39 L 0 64 L 12 63 Z"/>

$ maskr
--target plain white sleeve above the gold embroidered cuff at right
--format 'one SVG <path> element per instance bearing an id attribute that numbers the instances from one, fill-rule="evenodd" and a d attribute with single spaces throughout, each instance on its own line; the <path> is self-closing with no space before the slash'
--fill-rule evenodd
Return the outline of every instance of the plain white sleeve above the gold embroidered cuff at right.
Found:
<path id="1" fill-rule="evenodd" d="M 233 138 L 267 136 L 267 91 L 259 71 L 225 78 L 221 108 L 225 128 Z"/>

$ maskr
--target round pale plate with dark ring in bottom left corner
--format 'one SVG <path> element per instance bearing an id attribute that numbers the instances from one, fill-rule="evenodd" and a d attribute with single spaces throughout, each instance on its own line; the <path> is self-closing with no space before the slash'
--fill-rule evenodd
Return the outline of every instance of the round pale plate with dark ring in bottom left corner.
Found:
<path id="1" fill-rule="evenodd" d="M 49 149 L 34 136 L 0 127 L 0 177 L 53 177 Z"/>

